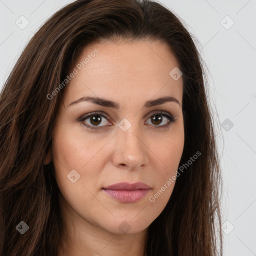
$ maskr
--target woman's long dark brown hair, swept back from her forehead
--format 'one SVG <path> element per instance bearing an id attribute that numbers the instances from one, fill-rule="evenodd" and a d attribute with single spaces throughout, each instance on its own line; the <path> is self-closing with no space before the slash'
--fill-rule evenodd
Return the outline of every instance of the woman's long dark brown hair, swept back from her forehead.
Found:
<path id="1" fill-rule="evenodd" d="M 180 166 L 201 153 L 177 177 L 166 207 L 149 225 L 147 256 L 222 255 L 221 176 L 202 60 L 180 19 L 153 0 L 76 0 L 24 48 L 0 95 L 0 255 L 57 255 L 63 235 L 58 187 L 54 166 L 43 161 L 64 88 L 47 95 L 83 47 L 116 38 L 169 45 L 183 79 Z M 23 234 L 20 221 L 29 226 Z"/>

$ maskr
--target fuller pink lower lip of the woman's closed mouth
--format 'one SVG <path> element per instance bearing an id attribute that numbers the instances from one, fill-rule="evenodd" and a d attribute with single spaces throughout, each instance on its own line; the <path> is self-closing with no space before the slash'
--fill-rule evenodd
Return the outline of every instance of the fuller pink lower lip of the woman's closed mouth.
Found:
<path id="1" fill-rule="evenodd" d="M 136 190 L 110 190 L 103 189 L 105 193 L 121 202 L 136 202 L 143 198 L 150 189 Z"/>

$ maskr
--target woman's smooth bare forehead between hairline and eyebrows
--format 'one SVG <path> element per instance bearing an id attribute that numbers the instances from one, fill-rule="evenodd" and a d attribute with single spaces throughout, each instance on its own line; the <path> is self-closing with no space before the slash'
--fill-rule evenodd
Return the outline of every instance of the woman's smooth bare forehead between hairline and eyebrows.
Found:
<path id="1" fill-rule="evenodd" d="M 158 40 L 90 44 L 81 51 L 73 66 L 77 73 L 66 86 L 66 99 L 102 94 L 139 98 L 157 93 L 157 96 L 178 97 L 181 102 L 182 77 L 174 80 L 169 75 L 175 67 L 178 63 L 169 46 Z"/>

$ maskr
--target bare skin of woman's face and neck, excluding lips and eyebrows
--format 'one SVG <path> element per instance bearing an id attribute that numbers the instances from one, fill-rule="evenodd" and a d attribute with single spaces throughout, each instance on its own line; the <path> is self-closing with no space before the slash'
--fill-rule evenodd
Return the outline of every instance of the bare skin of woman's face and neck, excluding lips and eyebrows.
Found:
<path id="1" fill-rule="evenodd" d="M 167 44 L 160 41 L 94 43 L 82 51 L 77 63 L 95 48 L 99 52 L 64 88 L 45 164 L 53 161 L 61 191 L 68 255 L 141 256 L 148 226 L 167 204 L 175 181 L 154 202 L 149 196 L 175 175 L 183 151 L 182 76 L 174 80 L 169 75 L 178 64 Z M 89 101 L 69 105 L 82 96 L 103 97 L 120 108 Z M 143 107 L 145 101 L 163 96 L 175 97 L 181 106 L 167 101 Z M 160 123 L 153 121 L 150 116 L 156 110 L 171 114 L 175 122 L 154 129 L 168 122 L 163 115 Z M 77 120 L 94 111 L 110 119 L 100 116 L 98 124 L 90 118 Z M 131 124 L 126 131 L 117 125 L 123 118 Z M 101 127 L 90 130 L 82 123 Z M 74 183 L 67 178 L 72 169 L 80 175 Z M 141 181 L 151 189 L 133 203 L 103 193 L 102 187 L 122 181 Z M 123 221 L 130 227 L 125 233 L 118 228 Z"/>

